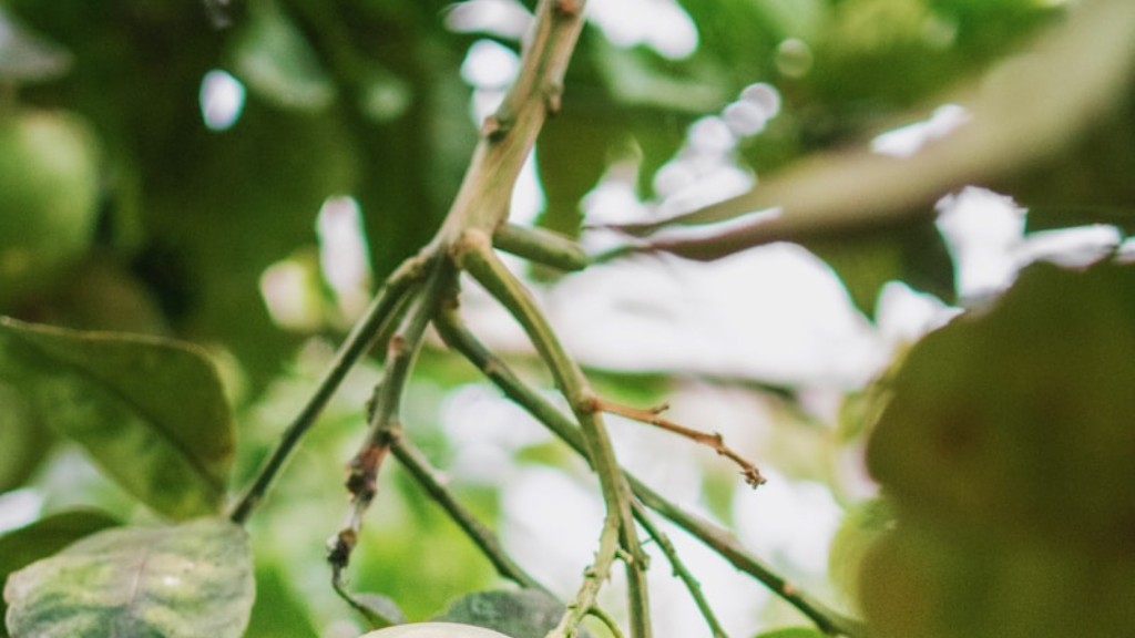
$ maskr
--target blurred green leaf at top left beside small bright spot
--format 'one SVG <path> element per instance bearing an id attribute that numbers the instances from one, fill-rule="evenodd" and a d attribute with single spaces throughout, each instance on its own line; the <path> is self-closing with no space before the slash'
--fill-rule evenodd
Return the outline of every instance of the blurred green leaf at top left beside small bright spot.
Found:
<path id="1" fill-rule="evenodd" d="M 236 76 L 278 106 L 319 111 L 335 99 L 319 56 L 275 0 L 249 2 L 230 57 Z"/>

